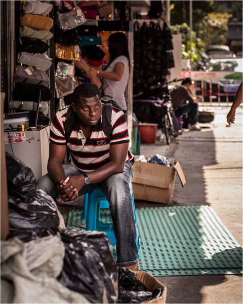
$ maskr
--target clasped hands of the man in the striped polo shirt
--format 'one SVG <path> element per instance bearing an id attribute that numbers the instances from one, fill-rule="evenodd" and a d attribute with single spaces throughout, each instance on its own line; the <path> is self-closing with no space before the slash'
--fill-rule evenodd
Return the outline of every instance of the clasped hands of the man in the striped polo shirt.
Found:
<path id="1" fill-rule="evenodd" d="M 74 201 L 78 197 L 78 192 L 85 185 L 85 179 L 83 175 L 69 176 L 69 178 L 60 179 L 57 184 L 57 190 L 61 197 L 59 201 L 61 203 Z"/>

